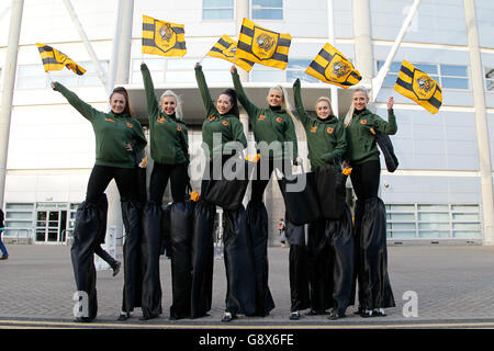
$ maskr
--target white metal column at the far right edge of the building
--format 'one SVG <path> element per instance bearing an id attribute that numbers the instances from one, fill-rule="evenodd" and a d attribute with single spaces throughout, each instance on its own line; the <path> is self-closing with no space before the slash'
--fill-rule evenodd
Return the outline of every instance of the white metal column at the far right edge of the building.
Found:
<path id="1" fill-rule="evenodd" d="M 475 2 L 474 0 L 463 0 L 463 5 L 469 42 L 476 144 L 479 147 L 479 173 L 481 177 L 482 212 L 484 218 L 484 245 L 494 245 L 494 193 L 487 114 L 485 111 L 484 79 L 482 75 L 482 57 L 479 46 L 479 32 L 476 29 Z"/>

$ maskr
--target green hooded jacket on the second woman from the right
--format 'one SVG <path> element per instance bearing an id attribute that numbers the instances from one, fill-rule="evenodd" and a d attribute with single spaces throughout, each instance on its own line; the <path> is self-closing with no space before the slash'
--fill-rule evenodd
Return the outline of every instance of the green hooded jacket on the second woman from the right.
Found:
<path id="1" fill-rule="evenodd" d="M 308 159 L 311 167 L 324 167 L 333 165 L 339 169 L 341 158 L 347 150 L 345 126 L 334 115 L 326 120 L 314 118 L 305 112 L 300 80 L 293 84 L 296 114 L 299 115 L 307 136 Z"/>

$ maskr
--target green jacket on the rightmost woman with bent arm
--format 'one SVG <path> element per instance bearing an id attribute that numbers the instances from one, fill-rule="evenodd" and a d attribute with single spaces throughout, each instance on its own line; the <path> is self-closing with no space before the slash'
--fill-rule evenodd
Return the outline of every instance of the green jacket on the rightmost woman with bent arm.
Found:
<path id="1" fill-rule="evenodd" d="M 379 160 L 375 136 L 371 128 L 388 135 L 396 134 L 397 126 L 393 110 L 388 110 L 388 122 L 367 109 L 360 114 L 353 113 L 351 123 L 346 128 L 348 141 L 346 160 L 351 165 Z"/>

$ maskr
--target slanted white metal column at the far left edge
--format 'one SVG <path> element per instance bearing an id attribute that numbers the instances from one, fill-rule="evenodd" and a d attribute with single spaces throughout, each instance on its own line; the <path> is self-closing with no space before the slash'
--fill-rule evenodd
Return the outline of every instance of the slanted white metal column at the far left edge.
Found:
<path id="1" fill-rule="evenodd" d="M 19 37 L 21 35 L 22 10 L 24 0 L 12 0 L 10 16 L 9 42 L 5 66 L 3 66 L 3 92 L 0 107 L 0 207 L 3 208 L 5 192 L 7 156 L 9 154 L 10 118 L 12 115 L 12 100 L 18 67 Z"/>

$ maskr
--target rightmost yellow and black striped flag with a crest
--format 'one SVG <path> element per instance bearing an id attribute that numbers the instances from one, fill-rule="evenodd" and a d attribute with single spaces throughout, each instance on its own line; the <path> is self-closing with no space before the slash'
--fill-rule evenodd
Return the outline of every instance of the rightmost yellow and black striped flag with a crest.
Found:
<path id="1" fill-rule="evenodd" d="M 433 114 L 437 113 L 442 104 L 442 90 L 437 81 L 406 60 L 402 61 L 394 90 Z"/>

